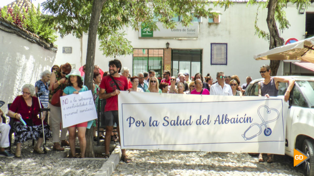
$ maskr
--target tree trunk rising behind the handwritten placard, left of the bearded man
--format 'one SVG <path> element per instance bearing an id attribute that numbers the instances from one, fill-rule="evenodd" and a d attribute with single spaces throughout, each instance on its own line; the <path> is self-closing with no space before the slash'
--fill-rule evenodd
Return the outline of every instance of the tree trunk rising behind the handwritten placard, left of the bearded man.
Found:
<path id="1" fill-rule="evenodd" d="M 94 62 L 95 62 L 95 49 L 97 39 L 97 29 L 100 18 L 100 13 L 104 3 L 107 0 L 94 0 L 92 6 L 92 14 L 89 22 L 88 40 L 87 40 L 87 54 L 86 54 L 86 71 L 84 84 L 89 90 L 93 87 L 94 76 Z M 94 158 L 94 145 L 93 145 L 93 127 L 86 129 L 86 152 L 85 157 Z"/>

